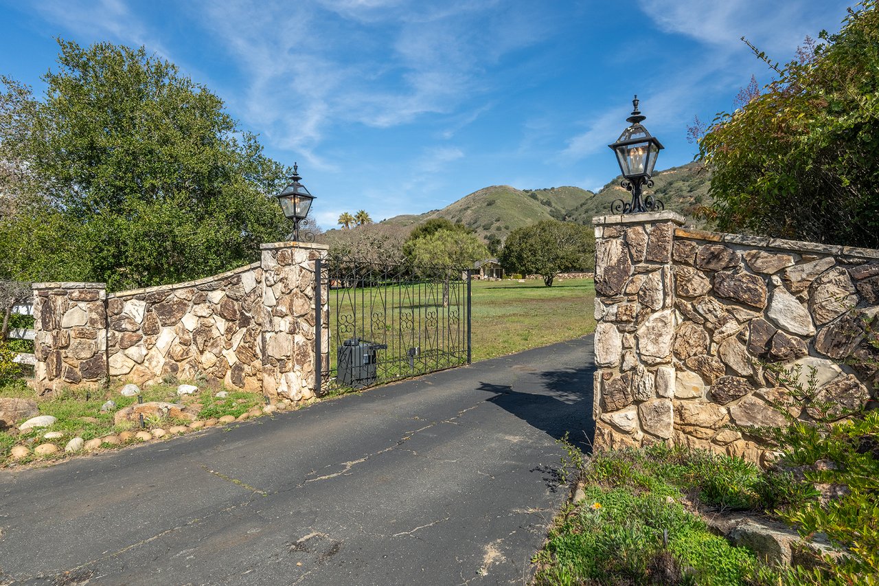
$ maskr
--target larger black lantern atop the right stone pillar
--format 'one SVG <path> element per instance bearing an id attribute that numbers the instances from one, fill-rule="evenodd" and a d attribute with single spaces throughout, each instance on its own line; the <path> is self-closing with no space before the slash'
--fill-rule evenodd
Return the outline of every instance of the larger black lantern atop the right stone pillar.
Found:
<path id="1" fill-rule="evenodd" d="M 635 106 L 632 115 L 626 119 L 631 125 L 622 131 L 616 143 L 607 145 L 614 150 L 616 162 L 620 164 L 623 177 L 620 182 L 621 187 L 632 192 L 630 203 L 616 200 L 610 204 L 611 212 L 614 214 L 637 214 L 665 209 L 663 202 L 652 195 L 641 199 L 641 188 L 653 187 L 650 175 L 653 174 L 653 167 L 657 164 L 659 150 L 665 147 L 641 125 L 647 116 L 638 111 L 637 96 L 632 100 L 632 106 Z"/>

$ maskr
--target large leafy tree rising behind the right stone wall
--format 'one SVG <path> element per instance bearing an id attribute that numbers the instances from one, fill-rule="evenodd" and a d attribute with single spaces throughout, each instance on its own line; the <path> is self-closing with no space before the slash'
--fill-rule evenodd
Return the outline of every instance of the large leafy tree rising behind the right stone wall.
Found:
<path id="1" fill-rule="evenodd" d="M 879 247 L 879 11 L 807 39 L 763 93 L 700 140 L 722 230 Z M 753 88 L 754 90 L 756 88 Z"/>

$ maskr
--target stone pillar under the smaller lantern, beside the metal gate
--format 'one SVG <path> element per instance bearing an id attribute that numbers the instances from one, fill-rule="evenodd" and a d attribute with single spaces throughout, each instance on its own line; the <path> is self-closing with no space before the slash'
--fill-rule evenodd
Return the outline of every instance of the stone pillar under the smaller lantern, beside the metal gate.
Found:
<path id="1" fill-rule="evenodd" d="M 329 246 L 304 242 L 262 245 L 263 393 L 294 401 L 314 397 L 315 260 Z M 322 290 L 322 348 L 329 343 L 327 290 Z"/>

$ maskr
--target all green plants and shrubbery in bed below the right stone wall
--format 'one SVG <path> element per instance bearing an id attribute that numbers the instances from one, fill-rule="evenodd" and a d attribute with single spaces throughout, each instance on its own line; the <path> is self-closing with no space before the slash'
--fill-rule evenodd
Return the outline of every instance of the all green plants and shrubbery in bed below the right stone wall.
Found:
<path id="1" fill-rule="evenodd" d="M 541 564 L 536 582 L 879 583 L 879 412 L 840 412 L 839 405 L 816 398 L 814 384 L 796 383 L 798 373 L 776 375 L 811 417 L 792 418 L 773 433 L 760 430 L 783 450 L 766 470 L 740 458 L 662 444 L 585 460 L 566 443 L 562 475 L 568 478 L 572 465 L 585 489 L 563 510 L 535 557 Z M 803 547 L 795 565 L 771 567 L 708 533 L 695 514 L 709 510 L 783 521 L 804 542 L 821 536 L 835 551 Z"/>

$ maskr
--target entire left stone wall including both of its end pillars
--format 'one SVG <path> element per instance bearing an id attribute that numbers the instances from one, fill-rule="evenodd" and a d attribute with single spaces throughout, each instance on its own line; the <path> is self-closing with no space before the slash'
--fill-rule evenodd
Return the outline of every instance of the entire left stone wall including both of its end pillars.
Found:
<path id="1" fill-rule="evenodd" d="M 263 245 L 261 254 L 222 275 L 110 295 L 103 283 L 35 284 L 40 392 L 173 375 L 271 399 L 313 397 L 314 271 L 326 247 L 287 242 Z"/>

